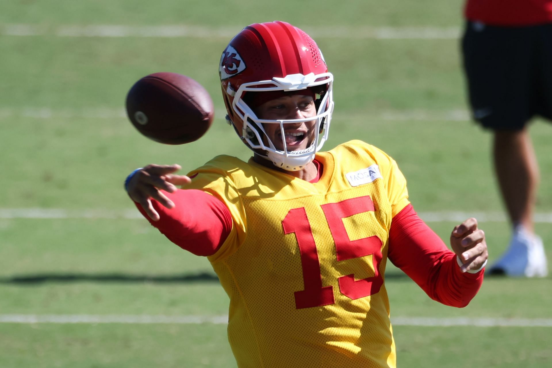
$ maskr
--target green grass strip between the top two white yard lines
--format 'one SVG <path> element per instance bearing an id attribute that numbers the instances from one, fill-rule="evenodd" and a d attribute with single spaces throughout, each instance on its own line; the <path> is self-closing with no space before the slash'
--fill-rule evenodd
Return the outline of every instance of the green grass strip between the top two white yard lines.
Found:
<path id="1" fill-rule="evenodd" d="M 6 37 L 0 47 L 11 55 L 1 63 L 17 77 L 0 75 L 1 106 L 120 107 L 132 83 L 152 70 L 187 74 L 218 96 L 217 63 L 228 41 Z M 334 70 L 337 111 L 463 106 L 457 41 L 321 38 L 318 43 Z M 224 108 L 221 98 L 215 103 Z"/>

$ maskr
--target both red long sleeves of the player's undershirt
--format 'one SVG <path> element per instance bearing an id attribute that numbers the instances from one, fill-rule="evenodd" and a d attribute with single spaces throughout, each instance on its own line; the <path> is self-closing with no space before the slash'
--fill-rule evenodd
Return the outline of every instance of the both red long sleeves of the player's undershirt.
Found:
<path id="1" fill-rule="evenodd" d="M 167 209 L 155 200 L 160 215 L 152 221 L 139 204 L 142 215 L 177 246 L 196 255 L 212 255 L 232 230 L 226 205 L 201 190 L 163 192 L 176 205 Z M 456 255 L 407 205 L 393 217 L 389 232 L 388 258 L 418 284 L 433 300 L 453 307 L 465 307 L 479 291 L 483 271 L 462 273 Z"/>

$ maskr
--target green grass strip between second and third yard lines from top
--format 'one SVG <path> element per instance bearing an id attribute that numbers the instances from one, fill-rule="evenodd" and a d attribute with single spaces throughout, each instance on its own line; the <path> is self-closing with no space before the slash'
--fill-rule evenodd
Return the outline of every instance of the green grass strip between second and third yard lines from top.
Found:
<path id="1" fill-rule="evenodd" d="M 10 175 L 0 177 L 0 186 L 10 195 L 0 198 L 1 207 L 131 209 L 120 188 L 126 173 L 136 167 L 180 163 L 187 172 L 215 154 L 245 160 L 250 156 L 220 117 L 201 140 L 185 146 L 149 141 L 124 118 L 4 121 L 10 124 L 3 142 L 4 150 L 11 152 Z M 538 211 L 552 209 L 552 181 L 546 180 L 552 172 L 549 128 L 537 122 L 532 129 L 543 173 Z M 405 136 L 411 137 L 406 143 Z M 471 122 L 385 121 L 336 112 L 327 147 L 351 138 L 374 144 L 396 159 L 418 211 L 502 209 L 490 162 L 490 136 Z"/>

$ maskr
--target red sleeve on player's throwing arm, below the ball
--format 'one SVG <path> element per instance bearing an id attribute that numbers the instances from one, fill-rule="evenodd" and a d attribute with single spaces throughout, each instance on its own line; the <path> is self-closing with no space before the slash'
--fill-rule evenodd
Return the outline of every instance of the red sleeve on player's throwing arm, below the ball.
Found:
<path id="1" fill-rule="evenodd" d="M 175 206 L 167 209 L 152 200 L 160 215 L 159 221 L 151 220 L 135 202 L 136 207 L 151 225 L 177 246 L 197 255 L 214 254 L 232 230 L 232 217 L 224 203 L 201 190 L 179 189 L 175 193 L 163 191 L 163 194 Z"/>

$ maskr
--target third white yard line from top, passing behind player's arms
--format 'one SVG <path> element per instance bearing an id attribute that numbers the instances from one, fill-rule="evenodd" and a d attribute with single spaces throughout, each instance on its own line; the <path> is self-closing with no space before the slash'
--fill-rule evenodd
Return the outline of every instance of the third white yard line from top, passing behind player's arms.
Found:
<path id="1" fill-rule="evenodd" d="M 506 222 L 507 218 L 503 212 L 461 212 L 461 211 L 435 211 L 418 212 L 422 220 L 427 222 L 458 222 L 466 218 L 475 217 L 479 222 Z M 142 218 L 140 212 L 135 209 L 128 210 L 102 210 L 102 209 L 44 209 L 44 208 L 0 208 L 0 219 L 9 220 L 12 218 L 28 219 L 57 219 L 68 218 L 91 218 L 91 219 L 114 219 Z M 552 212 L 541 212 L 534 215 L 536 223 L 552 223 Z"/>

